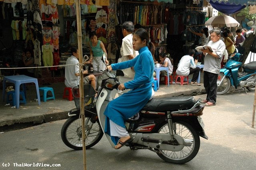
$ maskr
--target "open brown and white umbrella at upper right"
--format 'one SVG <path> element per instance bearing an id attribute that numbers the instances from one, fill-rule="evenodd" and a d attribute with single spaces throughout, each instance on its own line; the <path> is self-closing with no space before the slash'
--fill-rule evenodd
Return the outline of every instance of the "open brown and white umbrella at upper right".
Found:
<path id="1" fill-rule="evenodd" d="M 218 27 L 233 27 L 240 25 L 239 22 L 237 22 L 234 18 L 228 15 L 213 16 L 209 18 L 209 20 L 207 20 L 205 24 L 210 24 Z"/>

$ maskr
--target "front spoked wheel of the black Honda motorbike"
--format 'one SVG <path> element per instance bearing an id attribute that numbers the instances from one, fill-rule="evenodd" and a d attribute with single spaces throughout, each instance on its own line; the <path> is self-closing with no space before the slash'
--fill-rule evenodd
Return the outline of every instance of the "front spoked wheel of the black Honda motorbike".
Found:
<path id="1" fill-rule="evenodd" d="M 87 120 L 87 121 L 86 121 Z M 89 120 L 89 121 L 88 121 Z M 103 136 L 103 131 L 98 120 L 89 128 L 90 116 L 85 116 L 86 149 L 96 145 Z M 79 116 L 72 116 L 66 120 L 61 129 L 61 138 L 66 146 L 82 150 L 82 119 Z"/>

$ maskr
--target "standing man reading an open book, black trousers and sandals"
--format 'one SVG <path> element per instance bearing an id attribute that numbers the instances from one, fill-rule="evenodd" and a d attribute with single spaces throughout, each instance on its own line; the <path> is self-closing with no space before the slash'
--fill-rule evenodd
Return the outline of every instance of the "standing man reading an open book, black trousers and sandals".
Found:
<path id="1" fill-rule="evenodd" d="M 226 49 L 225 43 L 220 40 L 220 33 L 220 28 L 214 28 L 210 31 L 211 41 L 208 43 L 208 46 L 210 46 L 213 51 L 209 48 L 201 50 L 205 55 L 203 70 L 204 88 L 207 96 L 206 100 L 202 101 L 202 103 L 205 103 L 205 106 L 216 105 L 217 79 L 218 74 L 220 74 L 220 63 Z"/>

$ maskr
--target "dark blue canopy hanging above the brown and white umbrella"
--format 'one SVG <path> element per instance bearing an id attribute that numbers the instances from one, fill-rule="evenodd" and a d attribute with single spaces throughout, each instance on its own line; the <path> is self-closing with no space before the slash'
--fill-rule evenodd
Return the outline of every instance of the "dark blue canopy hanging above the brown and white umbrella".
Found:
<path id="1" fill-rule="evenodd" d="M 212 7 L 224 14 L 234 14 L 246 7 L 245 5 L 240 5 L 240 4 L 236 5 L 236 4 L 230 4 L 229 2 L 224 3 L 224 2 L 217 2 L 216 0 L 215 0 L 216 2 L 213 2 L 213 1 L 214 0 L 210 0 L 210 4 L 212 5 Z"/>

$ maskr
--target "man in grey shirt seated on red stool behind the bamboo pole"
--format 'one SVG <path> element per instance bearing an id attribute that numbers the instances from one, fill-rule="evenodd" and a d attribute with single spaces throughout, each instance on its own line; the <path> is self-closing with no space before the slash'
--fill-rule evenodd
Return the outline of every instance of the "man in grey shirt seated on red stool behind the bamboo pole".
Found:
<path id="1" fill-rule="evenodd" d="M 76 87 L 79 85 L 80 81 L 80 73 L 79 73 L 79 52 L 78 48 L 72 47 L 71 48 L 71 56 L 67 59 L 66 65 L 74 64 L 70 66 L 65 67 L 65 85 L 67 87 Z M 88 60 L 84 64 L 92 64 L 92 61 Z M 84 70 L 83 74 L 88 74 L 88 70 Z M 83 78 L 84 84 L 89 84 L 91 82 L 91 85 L 93 86 L 94 90 L 96 88 L 96 82 L 95 82 L 95 76 L 93 74 L 88 75 Z"/>

